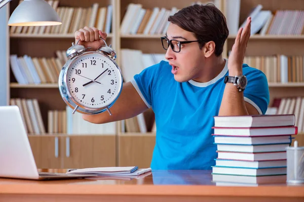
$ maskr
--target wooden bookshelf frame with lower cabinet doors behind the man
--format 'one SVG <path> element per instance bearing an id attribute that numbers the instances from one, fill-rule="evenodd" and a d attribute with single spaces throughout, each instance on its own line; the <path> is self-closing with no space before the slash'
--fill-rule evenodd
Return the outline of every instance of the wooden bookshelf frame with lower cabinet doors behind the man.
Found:
<path id="1" fill-rule="evenodd" d="M 121 66 L 121 49 L 139 49 L 145 54 L 165 54 L 161 46 L 160 37 L 163 34 L 122 34 L 120 25 L 130 3 L 141 4 L 142 8 L 153 9 L 155 7 L 171 9 L 176 7 L 181 9 L 189 6 L 191 2 L 181 0 L 168 1 L 147 1 L 147 0 L 108 0 L 96 1 L 87 0 L 75 2 L 71 0 L 60 0 L 59 7 L 92 7 L 98 2 L 99 7 L 113 6 L 112 31 L 108 33 L 107 43 L 112 44 L 118 54 L 117 62 Z M 207 1 L 202 1 L 207 2 Z M 226 1 L 218 0 L 220 10 L 226 13 Z M 241 0 L 240 5 L 240 23 L 241 24 L 250 10 L 257 4 L 263 6 L 263 10 L 271 10 L 273 13 L 277 10 L 304 10 L 304 5 L 300 0 L 292 2 L 287 0 Z M 12 13 L 18 5 L 18 1 L 12 1 L 8 14 Z M 8 28 L 9 29 L 9 28 Z M 7 30 L 9 32 L 9 30 Z M 10 33 L 10 40 L 7 43 L 9 54 L 18 56 L 28 55 L 31 57 L 55 57 L 57 50 L 66 50 L 74 41 L 73 33 L 66 34 L 26 34 Z M 236 35 L 230 35 L 224 46 L 224 54 L 228 53 L 234 43 Z M 272 56 L 277 54 L 285 55 L 304 55 L 302 49 L 304 45 L 303 35 L 258 35 L 251 36 L 248 42 L 246 56 Z M 8 54 L 8 55 L 9 55 Z M 8 59 L 9 62 L 9 59 Z M 36 98 L 39 101 L 44 125 L 48 126 L 49 110 L 65 110 L 57 83 L 43 84 L 18 84 L 14 78 L 10 67 L 7 67 L 10 75 L 10 83 L 7 85 L 9 98 Z M 304 82 L 270 82 L 269 89 L 271 93 L 270 106 L 272 106 L 275 97 L 302 96 L 304 97 Z M 8 103 L 9 104 L 9 100 Z M 148 131 L 152 127 L 151 120 L 153 113 L 145 113 L 145 118 L 150 119 L 147 123 Z M 118 122 L 115 135 L 67 135 L 67 134 L 47 134 L 47 135 L 29 135 L 30 143 L 34 151 L 35 160 L 40 168 L 71 168 L 71 167 L 89 167 L 89 166 L 132 166 L 148 167 L 151 154 L 155 145 L 155 132 L 122 132 L 123 122 Z M 304 145 L 303 135 L 301 144 Z M 56 140 L 57 139 L 57 140 Z M 58 142 L 59 158 L 54 159 L 55 144 Z M 69 142 L 70 156 L 66 157 L 66 147 Z M 93 148 L 93 149 L 91 149 Z M 101 149 L 102 148 L 102 149 Z M 54 160 L 52 160 L 54 159 Z M 88 159 L 88 161 L 86 161 Z M 53 163 L 52 163 L 53 162 Z M 85 163 L 82 163 L 85 162 Z"/>

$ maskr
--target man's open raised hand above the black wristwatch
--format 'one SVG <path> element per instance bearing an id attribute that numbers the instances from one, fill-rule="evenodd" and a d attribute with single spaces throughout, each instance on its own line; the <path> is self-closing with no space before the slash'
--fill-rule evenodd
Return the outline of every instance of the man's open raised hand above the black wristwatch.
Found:
<path id="1" fill-rule="evenodd" d="M 247 18 L 246 25 L 240 28 L 232 46 L 232 51 L 228 60 L 228 70 L 230 76 L 239 76 L 243 74 L 242 66 L 247 48 L 247 43 L 250 37 L 251 17 Z"/>

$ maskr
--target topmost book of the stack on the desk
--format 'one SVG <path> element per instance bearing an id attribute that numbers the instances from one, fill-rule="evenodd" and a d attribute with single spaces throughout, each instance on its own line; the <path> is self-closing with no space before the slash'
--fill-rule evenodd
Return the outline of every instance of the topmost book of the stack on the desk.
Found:
<path id="1" fill-rule="evenodd" d="M 286 115 L 248 115 L 248 116 L 215 116 L 214 127 L 275 127 L 293 126 L 294 114 Z"/>

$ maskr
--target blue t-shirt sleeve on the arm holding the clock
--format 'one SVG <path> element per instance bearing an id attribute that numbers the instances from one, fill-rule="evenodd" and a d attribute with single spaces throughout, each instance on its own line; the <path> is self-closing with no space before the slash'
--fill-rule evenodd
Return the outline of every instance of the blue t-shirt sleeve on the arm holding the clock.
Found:
<path id="1" fill-rule="evenodd" d="M 145 68 L 141 73 L 134 75 L 131 81 L 143 102 L 148 108 L 152 105 L 152 90 L 156 82 L 156 75 L 158 73 L 160 64 Z"/>

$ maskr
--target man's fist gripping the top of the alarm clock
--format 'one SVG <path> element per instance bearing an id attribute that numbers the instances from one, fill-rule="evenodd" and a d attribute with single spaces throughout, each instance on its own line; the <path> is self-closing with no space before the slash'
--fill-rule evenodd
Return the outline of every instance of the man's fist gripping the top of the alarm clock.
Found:
<path id="1" fill-rule="evenodd" d="M 106 40 L 107 34 L 98 30 L 96 27 L 84 27 L 75 31 L 75 43 L 80 39 L 78 44 L 83 44 L 86 47 L 90 47 L 91 51 L 96 51 L 97 48 L 104 45 L 103 40 L 99 39 L 99 37 Z"/>

